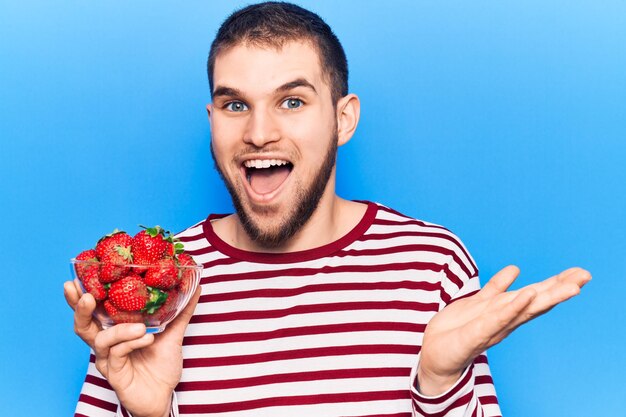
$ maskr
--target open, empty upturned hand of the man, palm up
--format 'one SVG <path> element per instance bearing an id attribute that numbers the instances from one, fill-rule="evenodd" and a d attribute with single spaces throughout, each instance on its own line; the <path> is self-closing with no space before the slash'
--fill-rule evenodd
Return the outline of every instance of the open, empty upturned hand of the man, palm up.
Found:
<path id="1" fill-rule="evenodd" d="M 519 290 L 507 291 L 519 275 L 508 266 L 476 294 L 448 305 L 429 322 L 418 369 L 420 392 L 438 395 L 459 378 L 479 354 L 520 325 L 580 293 L 589 272 L 571 268 Z"/>

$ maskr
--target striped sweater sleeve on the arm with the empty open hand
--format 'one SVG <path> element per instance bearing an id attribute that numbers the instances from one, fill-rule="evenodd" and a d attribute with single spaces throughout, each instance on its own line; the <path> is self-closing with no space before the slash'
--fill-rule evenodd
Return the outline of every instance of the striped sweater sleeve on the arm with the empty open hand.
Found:
<path id="1" fill-rule="evenodd" d="M 451 254 L 444 265 L 440 309 L 480 290 L 478 270 L 463 244 L 454 235 Z M 486 353 L 474 359 L 457 382 L 446 392 L 429 397 L 419 392 L 417 364 L 411 373 L 413 415 L 420 417 L 499 417 L 501 416 Z"/>

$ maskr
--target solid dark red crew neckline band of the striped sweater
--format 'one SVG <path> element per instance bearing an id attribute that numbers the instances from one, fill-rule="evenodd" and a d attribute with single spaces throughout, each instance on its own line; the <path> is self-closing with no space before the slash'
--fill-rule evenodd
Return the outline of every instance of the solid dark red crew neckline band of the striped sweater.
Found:
<path id="1" fill-rule="evenodd" d="M 205 238 L 209 241 L 211 246 L 217 249 L 219 252 L 227 255 L 231 258 L 237 258 L 243 261 L 256 262 L 256 263 L 294 263 L 304 262 L 313 259 L 319 259 L 327 257 L 336 253 L 346 246 L 353 243 L 360 238 L 367 229 L 372 225 L 376 213 L 378 212 L 378 205 L 371 201 L 357 201 L 359 203 L 367 204 L 365 214 L 361 220 L 344 236 L 339 239 L 327 243 L 326 245 L 318 246 L 312 249 L 305 249 L 295 252 L 286 253 L 272 253 L 272 252 L 252 252 L 243 249 L 238 249 L 224 240 L 222 240 L 213 230 L 211 222 L 213 220 L 221 219 L 230 214 L 211 214 L 202 225 Z"/>

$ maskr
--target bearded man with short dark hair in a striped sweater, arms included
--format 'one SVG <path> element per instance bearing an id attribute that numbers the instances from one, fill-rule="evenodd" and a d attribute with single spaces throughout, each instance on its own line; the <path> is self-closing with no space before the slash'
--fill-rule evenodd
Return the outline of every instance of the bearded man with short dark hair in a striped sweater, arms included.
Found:
<path id="1" fill-rule="evenodd" d="M 507 267 L 479 291 L 452 233 L 338 197 L 337 147 L 359 100 L 311 12 L 234 13 L 208 73 L 211 149 L 236 213 L 179 234 L 204 265 L 202 295 L 162 334 L 101 330 L 93 297 L 66 283 L 95 356 L 77 415 L 500 415 L 483 352 L 590 275 L 507 292 L 518 274 Z"/>

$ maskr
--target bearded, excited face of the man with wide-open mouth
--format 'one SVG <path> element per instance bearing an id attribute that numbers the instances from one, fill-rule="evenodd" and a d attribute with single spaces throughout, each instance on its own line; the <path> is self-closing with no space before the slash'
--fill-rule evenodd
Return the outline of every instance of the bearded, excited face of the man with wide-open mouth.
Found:
<path id="1" fill-rule="evenodd" d="M 250 238 L 280 246 L 334 193 L 337 119 L 318 54 L 306 42 L 238 45 L 213 80 L 216 167 Z"/>

